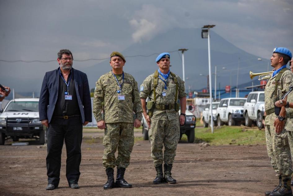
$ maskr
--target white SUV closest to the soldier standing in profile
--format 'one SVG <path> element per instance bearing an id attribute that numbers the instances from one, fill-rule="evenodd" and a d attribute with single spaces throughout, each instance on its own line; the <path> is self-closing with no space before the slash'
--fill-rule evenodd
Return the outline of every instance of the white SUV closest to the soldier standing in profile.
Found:
<path id="1" fill-rule="evenodd" d="M 263 128 L 264 91 L 254 91 L 248 94 L 244 104 L 245 126 L 251 127 L 256 121 L 259 129 Z"/>

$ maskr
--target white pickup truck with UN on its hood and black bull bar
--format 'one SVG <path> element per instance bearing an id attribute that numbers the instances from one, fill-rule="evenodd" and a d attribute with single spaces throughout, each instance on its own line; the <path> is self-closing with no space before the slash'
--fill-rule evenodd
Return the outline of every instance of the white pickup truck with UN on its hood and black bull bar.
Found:
<path id="1" fill-rule="evenodd" d="M 35 138 L 45 144 L 47 128 L 39 119 L 39 99 L 13 99 L 4 110 L 0 109 L 0 145 L 5 139 Z"/>

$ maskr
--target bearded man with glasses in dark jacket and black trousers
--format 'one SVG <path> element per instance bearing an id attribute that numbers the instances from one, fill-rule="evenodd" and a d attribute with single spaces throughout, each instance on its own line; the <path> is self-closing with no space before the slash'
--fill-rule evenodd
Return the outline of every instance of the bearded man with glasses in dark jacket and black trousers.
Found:
<path id="1" fill-rule="evenodd" d="M 47 132 L 46 190 L 58 187 L 61 151 L 66 145 L 66 178 L 69 187 L 78 189 L 81 162 L 82 125 L 91 122 L 91 97 L 87 75 L 72 68 L 73 55 L 58 52 L 60 67 L 45 74 L 39 100 L 39 115 Z"/>

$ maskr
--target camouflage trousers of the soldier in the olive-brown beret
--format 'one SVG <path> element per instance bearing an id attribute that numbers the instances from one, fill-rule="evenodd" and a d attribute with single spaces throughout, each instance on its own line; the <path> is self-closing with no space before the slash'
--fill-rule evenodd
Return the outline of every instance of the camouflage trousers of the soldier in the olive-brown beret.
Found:
<path id="1" fill-rule="evenodd" d="M 114 168 L 127 168 L 130 162 L 130 154 L 134 144 L 133 123 L 106 123 L 103 139 L 104 156 L 103 166 Z M 115 152 L 118 148 L 118 156 L 115 158 Z"/>

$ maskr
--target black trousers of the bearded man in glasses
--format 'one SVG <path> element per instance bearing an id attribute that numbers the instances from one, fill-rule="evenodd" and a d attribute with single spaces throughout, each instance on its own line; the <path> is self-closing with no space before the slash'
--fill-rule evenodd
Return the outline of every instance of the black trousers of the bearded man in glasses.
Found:
<path id="1" fill-rule="evenodd" d="M 60 181 L 61 153 L 66 146 L 66 178 L 68 184 L 79 179 L 81 162 L 82 123 L 80 117 L 69 119 L 52 118 L 47 132 L 47 176 L 48 184 L 58 187 Z"/>

